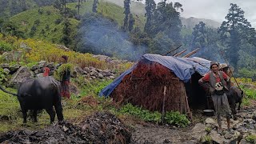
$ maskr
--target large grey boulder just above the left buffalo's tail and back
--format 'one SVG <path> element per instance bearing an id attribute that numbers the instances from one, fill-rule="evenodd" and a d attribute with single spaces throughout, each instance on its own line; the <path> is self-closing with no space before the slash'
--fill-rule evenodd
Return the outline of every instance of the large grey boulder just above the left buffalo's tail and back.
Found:
<path id="1" fill-rule="evenodd" d="M 30 70 L 22 66 L 20 67 L 15 74 L 13 74 L 12 78 L 10 78 L 9 86 L 15 86 L 18 88 L 19 84 L 25 79 L 25 78 L 30 78 Z"/>

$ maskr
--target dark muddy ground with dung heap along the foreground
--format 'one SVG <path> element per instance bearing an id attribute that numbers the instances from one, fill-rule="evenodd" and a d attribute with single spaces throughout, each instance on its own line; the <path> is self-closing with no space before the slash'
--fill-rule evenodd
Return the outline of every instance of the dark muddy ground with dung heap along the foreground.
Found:
<path id="1" fill-rule="evenodd" d="M 255 106 L 238 112 L 239 122 L 248 119 L 246 115 L 254 114 Z M 251 116 L 250 116 L 251 117 Z M 113 114 L 98 112 L 84 118 L 79 124 L 62 122 L 47 126 L 43 130 L 18 130 L 0 135 L 2 143 L 198 143 L 192 135 L 192 129 L 207 117 L 200 111 L 194 114 L 195 121 L 187 128 L 168 125 L 156 125 L 146 122 L 124 124 Z M 211 117 L 215 118 L 215 117 Z M 254 120 L 255 121 L 255 120 Z M 225 120 L 224 120 L 225 122 Z M 245 125 L 246 123 L 243 123 Z M 255 130 L 255 122 L 251 122 Z M 241 126 L 240 126 L 241 127 Z M 246 126 L 248 127 L 248 126 Z M 204 128 L 202 128 L 204 129 Z M 204 131 L 204 130 L 202 130 Z M 214 130 L 213 130 L 214 131 Z M 219 136 L 221 137 L 221 136 Z M 243 142 L 246 142 L 245 140 Z"/>

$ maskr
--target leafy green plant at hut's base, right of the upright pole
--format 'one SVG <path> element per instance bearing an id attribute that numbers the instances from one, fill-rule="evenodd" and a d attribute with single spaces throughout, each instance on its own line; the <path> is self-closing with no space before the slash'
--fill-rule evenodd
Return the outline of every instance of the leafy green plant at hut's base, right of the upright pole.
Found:
<path id="1" fill-rule="evenodd" d="M 167 123 L 186 127 L 190 124 L 190 121 L 186 118 L 185 114 L 180 114 L 178 111 L 166 112 L 165 120 Z"/>

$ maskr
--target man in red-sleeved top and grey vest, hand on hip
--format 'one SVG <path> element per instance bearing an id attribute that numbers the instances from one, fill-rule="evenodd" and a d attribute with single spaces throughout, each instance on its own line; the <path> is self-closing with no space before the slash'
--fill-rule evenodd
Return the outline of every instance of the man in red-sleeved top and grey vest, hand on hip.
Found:
<path id="1" fill-rule="evenodd" d="M 230 78 L 222 71 L 218 70 L 218 62 L 210 62 L 210 72 L 204 77 L 199 79 L 199 84 L 204 82 L 210 84 L 210 94 L 214 102 L 215 112 L 218 120 L 218 130 L 222 131 L 221 114 L 226 114 L 227 128 L 230 130 L 230 106 L 225 94 L 227 88 L 227 82 L 230 82 Z"/>

